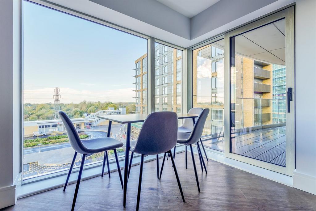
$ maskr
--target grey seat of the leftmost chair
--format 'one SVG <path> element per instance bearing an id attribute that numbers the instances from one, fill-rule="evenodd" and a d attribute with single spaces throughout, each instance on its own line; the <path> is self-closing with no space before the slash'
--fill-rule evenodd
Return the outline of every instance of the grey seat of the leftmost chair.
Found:
<path id="1" fill-rule="evenodd" d="M 109 137 L 82 140 L 82 144 L 87 148 L 85 149 L 87 154 L 104 152 L 124 145 L 121 141 Z"/>

